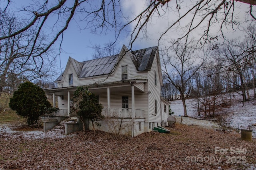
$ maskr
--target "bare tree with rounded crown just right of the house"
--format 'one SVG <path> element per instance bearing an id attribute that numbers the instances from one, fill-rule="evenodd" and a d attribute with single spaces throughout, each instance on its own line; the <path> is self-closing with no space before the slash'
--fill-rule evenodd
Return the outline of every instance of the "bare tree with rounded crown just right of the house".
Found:
<path id="1" fill-rule="evenodd" d="M 166 47 L 162 55 L 164 78 L 180 92 L 184 116 L 187 116 L 185 101 L 192 88 L 192 77 L 208 60 L 209 52 L 198 53 L 196 42 L 191 40 Z"/>

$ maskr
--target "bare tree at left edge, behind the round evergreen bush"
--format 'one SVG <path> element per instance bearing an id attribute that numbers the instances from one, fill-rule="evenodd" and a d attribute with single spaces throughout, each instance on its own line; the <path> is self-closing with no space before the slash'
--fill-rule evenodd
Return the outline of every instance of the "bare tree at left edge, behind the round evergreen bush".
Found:
<path id="1" fill-rule="evenodd" d="M 12 31 L 22 27 L 23 22 L 10 13 L 0 14 L 0 36 L 8 36 Z M 17 35 L 0 40 L 0 96 L 2 92 L 15 90 L 24 80 L 34 80 L 54 75 L 54 57 L 41 54 L 47 46 L 44 39 L 38 36 L 34 43 L 34 29 L 27 29 Z M 31 57 L 29 57 L 31 56 Z M 47 64 L 46 64 L 47 63 Z"/>

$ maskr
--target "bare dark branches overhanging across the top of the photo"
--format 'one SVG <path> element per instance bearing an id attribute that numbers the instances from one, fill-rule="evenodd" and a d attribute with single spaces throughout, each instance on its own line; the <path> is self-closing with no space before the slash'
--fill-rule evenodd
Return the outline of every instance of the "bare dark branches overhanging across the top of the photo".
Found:
<path id="1" fill-rule="evenodd" d="M 12 0 L 6 0 L 0 8 L 0 13 L 13 9 Z M 254 5 L 255 0 L 240 0 L 240 2 L 249 4 L 248 14 L 250 20 L 255 21 Z M 236 20 L 236 5 L 240 2 L 228 0 L 192 0 L 190 2 L 180 0 L 151 0 L 146 1 L 144 8 L 138 14 L 125 15 L 122 13 L 122 1 L 119 0 L 59 0 L 59 1 L 38 1 L 31 2 L 30 5 L 22 7 L 20 11 L 28 18 L 23 19 L 26 23 L 18 30 L 10 31 L 7 35 L 0 36 L 0 40 L 14 37 L 27 29 L 34 27 L 36 37 L 34 44 L 38 43 L 37 37 L 42 34 L 43 29 L 52 29 L 48 34 L 48 45 L 43 48 L 41 54 L 45 53 L 59 39 L 60 45 L 63 39 L 63 33 L 68 28 L 72 20 L 79 22 L 81 30 L 91 29 L 92 33 L 106 33 L 108 30 L 115 31 L 114 42 L 120 37 L 122 31 L 131 31 L 130 49 L 139 34 L 147 35 L 147 28 L 155 19 L 168 17 L 166 22 L 168 27 L 162 31 L 159 39 L 162 39 L 172 29 L 180 28 L 180 39 L 187 37 L 196 29 L 202 29 L 200 32 L 200 41 L 202 44 L 215 39 L 216 35 L 211 35 L 210 30 L 216 25 L 220 25 L 220 32 L 223 34 L 223 27 L 227 24 L 231 26 L 239 25 Z M 168 16 L 172 12 L 177 16 L 171 20 Z M 247 12 L 247 11 L 246 11 Z M 246 13 L 245 12 L 245 13 Z M 200 17 L 199 17 L 200 16 Z M 187 19 L 189 21 L 187 22 Z M 185 23 L 181 25 L 180 23 Z M 184 29 L 186 28 L 186 29 Z M 224 37 L 224 36 L 223 36 Z M 61 49 L 61 48 L 60 48 Z M 31 57 L 28 56 L 28 57 Z"/>

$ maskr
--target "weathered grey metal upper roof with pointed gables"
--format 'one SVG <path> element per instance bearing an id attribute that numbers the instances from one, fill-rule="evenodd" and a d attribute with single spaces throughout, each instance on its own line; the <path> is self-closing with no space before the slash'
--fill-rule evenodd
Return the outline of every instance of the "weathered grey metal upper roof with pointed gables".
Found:
<path id="1" fill-rule="evenodd" d="M 125 51 L 125 53 L 129 53 L 138 71 L 148 71 L 152 67 L 154 57 L 156 56 L 156 53 L 158 51 L 158 46 L 131 52 L 127 51 L 127 48 L 123 46 L 122 50 L 120 51 L 120 54 L 117 55 L 112 55 L 100 59 L 93 59 L 83 62 L 78 62 L 70 57 L 68 59 L 68 63 L 70 62 L 73 65 L 78 78 L 111 74 L 112 70 L 117 65 L 119 59 L 122 58 L 122 56 L 120 56 L 123 55 L 122 51 Z M 66 70 L 67 68 L 65 68 L 65 71 Z M 64 75 L 65 71 L 56 79 L 56 81 L 62 81 L 62 76 Z"/>

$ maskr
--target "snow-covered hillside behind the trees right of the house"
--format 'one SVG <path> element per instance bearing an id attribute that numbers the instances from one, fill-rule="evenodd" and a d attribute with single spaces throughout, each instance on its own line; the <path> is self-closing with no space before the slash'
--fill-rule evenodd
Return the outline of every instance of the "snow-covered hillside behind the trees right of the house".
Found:
<path id="1" fill-rule="evenodd" d="M 221 107 L 216 110 L 216 113 L 222 114 L 227 117 L 226 120 L 230 122 L 230 127 L 239 129 L 252 129 L 252 135 L 256 137 L 256 99 L 253 99 L 253 90 L 249 90 L 251 100 L 245 103 L 243 106 L 242 96 L 238 93 L 223 94 L 218 96 L 218 103 L 226 103 L 230 106 Z M 174 115 L 184 115 L 184 109 L 181 100 L 171 102 L 171 109 L 174 111 Z M 186 100 L 187 114 L 190 117 L 197 117 L 196 100 Z"/>

